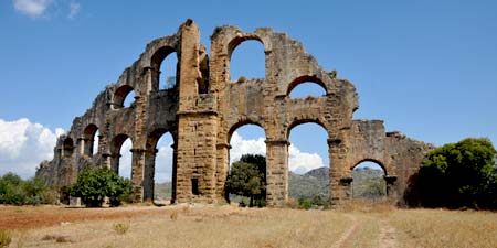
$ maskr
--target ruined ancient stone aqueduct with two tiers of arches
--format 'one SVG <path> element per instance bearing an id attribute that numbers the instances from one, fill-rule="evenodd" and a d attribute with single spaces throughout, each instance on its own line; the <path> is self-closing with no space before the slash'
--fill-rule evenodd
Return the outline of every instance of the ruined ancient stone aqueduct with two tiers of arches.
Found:
<path id="1" fill-rule="evenodd" d="M 248 40 L 264 46 L 265 78 L 230 82 L 231 54 Z M 170 54 L 178 57 L 176 87 L 159 89 L 160 65 Z M 326 95 L 290 98 L 292 89 L 304 82 L 318 84 Z M 124 107 L 131 90 L 135 101 Z M 98 94 L 92 108 L 76 117 L 68 133 L 59 138 L 54 159 L 43 162 L 36 174 L 52 185 L 64 186 L 85 166 L 118 171 L 119 149 L 130 138 L 135 198 L 149 201 L 154 197 L 156 144 L 170 132 L 173 200 L 222 202 L 231 134 L 253 123 L 266 134 L 267 205 L 281 206 L 288 197 L 289 131 L 315 122 L 328 133 L 332 204 L 351 198 L 351 172 L 363 161 L 383 168 L 388 197 L 402 204 L 409 180 L 431 145 L 385 132 L 381 120 L 352 120 L 358 107 L 355 86 L 322 69 L 287 34 L 266 28 L 244 33 L 225 25 L 215 29 L 208 54 L 200 44 L 198 26 L 188 20 L 176 34 L 150 42 L 117 83 Z M 93 154 L 97 130 L 98 151 Z"/>

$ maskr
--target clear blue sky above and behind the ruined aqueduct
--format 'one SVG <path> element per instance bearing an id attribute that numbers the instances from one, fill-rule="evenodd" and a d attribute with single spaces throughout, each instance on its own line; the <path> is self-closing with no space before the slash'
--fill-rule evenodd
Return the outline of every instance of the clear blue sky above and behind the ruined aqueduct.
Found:
<path id="1" fill-rule="evenodd" d="M 19 155 L 6 159 L 13 151 L 33 153 L 30 140 L 50 147 L 56 129 L 68 130 L 148 42 L 188 18 L 208 47 L 222 24 L 288 33 L 356 85 L 357 119 L 383 119 L 387 130 L 437 145 L 466 137 L 497 143 L 496 1 L 9 0 L 0 2 L 0 174 L 20 164 Z M 264 74 L 260 53 L 240 54 L 247 76 Z M 22 118 L 27 138 L 9 137 Z M 318 129 L 310 125 L 290 141 L 326 157 L 326 143 L 316 147 L 309 136 Z"/>

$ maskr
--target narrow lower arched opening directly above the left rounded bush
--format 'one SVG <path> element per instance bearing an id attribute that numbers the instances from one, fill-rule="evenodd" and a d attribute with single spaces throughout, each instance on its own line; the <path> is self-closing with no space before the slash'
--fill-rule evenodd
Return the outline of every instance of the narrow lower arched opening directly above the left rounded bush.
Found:
<path id="1" fill-rule="evenodd" d="M 133 176 L 133 141 L 126 134 L 118 134 L 112 141 L 113 170 L 125 179 Z"/>

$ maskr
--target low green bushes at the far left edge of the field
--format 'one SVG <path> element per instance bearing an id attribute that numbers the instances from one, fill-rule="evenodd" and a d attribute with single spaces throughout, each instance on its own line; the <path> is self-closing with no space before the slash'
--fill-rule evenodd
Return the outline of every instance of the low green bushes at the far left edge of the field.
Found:
<path id="1" fill-rule="evenodd" d="M 39 177 L 23 181 L 19 175 L 11 172 L 0 177 L 0 204 L 39 205 L 54 204 L 55 202 L 55 190 L 49 187 Z"/>

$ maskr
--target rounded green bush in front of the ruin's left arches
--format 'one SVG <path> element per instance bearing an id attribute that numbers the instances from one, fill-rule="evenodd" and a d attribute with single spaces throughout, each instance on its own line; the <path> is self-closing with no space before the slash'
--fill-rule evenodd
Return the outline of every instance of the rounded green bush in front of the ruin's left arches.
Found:
<path id="1" fill-rule="evenodd" d="M 131 195 L 131 182 L 109 169 L 85 169 L 70 188 L 71 196 L 81 197 L 89 207 L 99 207 L 107 196 L 110 206 L 118 206 Z"/>

